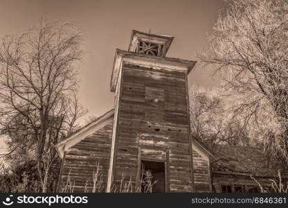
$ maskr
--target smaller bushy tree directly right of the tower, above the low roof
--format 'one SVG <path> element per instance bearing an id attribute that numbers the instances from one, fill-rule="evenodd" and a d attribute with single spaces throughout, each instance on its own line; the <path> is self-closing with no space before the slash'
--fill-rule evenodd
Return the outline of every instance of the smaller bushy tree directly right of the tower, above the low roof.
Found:
<path id="1" fill-rule="evenodd" d="M 193 85 L 190 88 L 191 135 L 208 144 L 250 146 L 255 142 L 244 123 L 236 121 L 230 110 L 231 99 L 222 96 L 222 88 L 213 90 Z"/>

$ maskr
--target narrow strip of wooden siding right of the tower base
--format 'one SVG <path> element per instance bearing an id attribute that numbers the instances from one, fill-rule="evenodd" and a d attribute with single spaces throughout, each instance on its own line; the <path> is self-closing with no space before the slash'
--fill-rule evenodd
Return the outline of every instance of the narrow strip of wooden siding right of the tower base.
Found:
<path id="1" fill-rule="evenodd" d="M 211 192 L 210 167 L 208 161 L 196 150 L 192 150 L 194 192 Z"/>

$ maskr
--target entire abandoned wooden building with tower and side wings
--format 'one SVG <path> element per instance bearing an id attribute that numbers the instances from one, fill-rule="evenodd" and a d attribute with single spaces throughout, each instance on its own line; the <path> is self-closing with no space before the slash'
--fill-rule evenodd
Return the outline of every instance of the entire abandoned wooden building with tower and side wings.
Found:
<path id="1" fill-rule="evenodd" d="M 128 50 L 116 49 L 114 109 L 56 145 L 58 191 L 69 178 L 73 191 L 84 192 L 96 164 L 103 192 L 118 192 L 123 178 L 141 186 L 143 170 L 152 174 L 152 192 L 257 192 L 251 175 L 263 183 L 275 175 L 258 148 L 191 138 L 187 77 L 196 62 L 166 57 L 173 39 L 132 31 Z"/>

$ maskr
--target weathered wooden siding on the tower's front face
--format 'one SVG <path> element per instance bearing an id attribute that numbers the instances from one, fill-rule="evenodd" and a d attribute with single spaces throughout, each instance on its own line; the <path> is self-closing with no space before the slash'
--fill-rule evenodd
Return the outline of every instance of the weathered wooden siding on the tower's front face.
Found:
<path id="1" fill-rule="evenodd" d="M 123 175 L 135 182 L 141 155 L 165 159 L 167 191 L 191 192 L 186 73 L 132 64 L 123 64 L 122 70 L 114 187 Z"/>

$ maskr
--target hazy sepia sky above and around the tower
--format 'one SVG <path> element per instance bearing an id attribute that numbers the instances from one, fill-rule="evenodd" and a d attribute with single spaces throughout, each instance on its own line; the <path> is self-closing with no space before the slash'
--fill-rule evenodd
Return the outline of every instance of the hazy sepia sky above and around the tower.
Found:
<path id="1" fill-rule="evenodd" d="M 132 29 L 173 35 L 167 56 L 197 60 L 197 53 L 207 44 L 206 34 L 223 9 L 222 0 L 0 0 L 0 36 L 22 33 L 41 17 L 69 21 L 84 29 L 87 55 L 80 67 L 80 102 L 89 115 L 100 116 L 113 107 L 109 82 L 115 49 L 127 50 Z M 188 80 L 189 85 L 215 86 L 199 64 Z"/>

